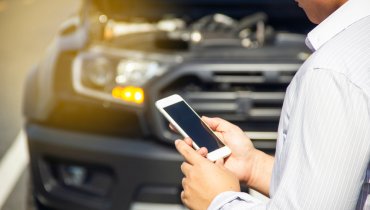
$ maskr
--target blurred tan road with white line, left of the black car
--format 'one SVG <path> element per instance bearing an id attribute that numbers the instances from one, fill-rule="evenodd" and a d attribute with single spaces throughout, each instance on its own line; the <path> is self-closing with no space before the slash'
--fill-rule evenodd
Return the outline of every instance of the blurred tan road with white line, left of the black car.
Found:
<path id="1" fill-rule="evenodd" d="M 22 130 L 23 88 L 27 72 L 45 54 L 60 24 L 79 8 L 79 0 L 0 0 L 0 157 L 3 159 Z M 23 136 L 24 137 L 24 136 Z M 17 146 L 17 145 L 15 145 Z M 27 150 L 23 150 L 28 152 Z M 10 154 L 10 153 L 8 153 Z M 9 155 L 8 155 L 9 156 Z M 22 154 L 11 158 L 17 167 Z M 24 161 L 27 159 L 22 159 Z M 24 210 L 29 173 L 26 168 L 14 169 L 1 161 L 0 209 Z M 4 171 L 5 170 L 5 171 Z M 9 171 L 13 170 L 13 171 Z M 2 176 L 3 175 L 3 176 Z M 6 183 L 4 176 L 15 176 Z M 4 191 L 4 188 L 10 191 Z M 2 208 L 1 208 L 2 206 Z"/>

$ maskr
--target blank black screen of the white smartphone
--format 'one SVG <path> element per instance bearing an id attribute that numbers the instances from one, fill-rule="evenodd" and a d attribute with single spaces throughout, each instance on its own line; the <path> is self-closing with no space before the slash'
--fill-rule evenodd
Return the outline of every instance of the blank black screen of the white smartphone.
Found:
<path id="1" fill-rule="evenodd" d="M 164 107 L 164 110 L 199 147 L 206 147 L 208 152 L 212 152 L 224 146 L 185 102 L 177 102 Z"/>

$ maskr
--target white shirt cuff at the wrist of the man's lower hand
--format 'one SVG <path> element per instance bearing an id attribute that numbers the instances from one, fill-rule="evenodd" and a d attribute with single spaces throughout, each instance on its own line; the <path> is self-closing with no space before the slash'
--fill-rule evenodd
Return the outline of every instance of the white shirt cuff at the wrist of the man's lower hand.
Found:
<path id="1" fill-rule="evenodd" d="M 249 195 L 248 193 L 227 191 L 217 195 L 212 200 L 208 210 L 222 209 L 225 205 L 234 201 L 244 203 L 245 207 L 253 207 L 262 203 L 260 200 Z"/>

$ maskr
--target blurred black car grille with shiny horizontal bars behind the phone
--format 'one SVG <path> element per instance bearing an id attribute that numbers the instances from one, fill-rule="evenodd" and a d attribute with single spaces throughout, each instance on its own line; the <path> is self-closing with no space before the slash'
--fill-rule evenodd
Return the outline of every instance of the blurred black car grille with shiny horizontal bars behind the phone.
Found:
<path id="1" fill-rule="evenodd" d="M 261 149 L 275 148 L 285 90 L 300 64 L 189 64 L 159 81 L 155 98 L 181 95 L 200 115 L 221 117 L 243 129 Z M 157 89 L 158 88 L 158 89 Z M 157 115 L 160 115 L 156 112 Z M 174 136 L 162 117 L 158 135 Z"/>

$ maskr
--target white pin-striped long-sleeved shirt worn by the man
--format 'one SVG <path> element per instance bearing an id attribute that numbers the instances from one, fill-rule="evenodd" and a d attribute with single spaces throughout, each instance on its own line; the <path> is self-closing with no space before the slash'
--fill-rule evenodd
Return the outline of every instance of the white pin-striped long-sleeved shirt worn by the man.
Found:
<path id="1" fill-rule="evenodd" d="M 370 1 L 349 0 L 306 39 L 291 81 L 267 203 L 224 192 L 209 210 L 355 209 L 370 160 Z"/>

